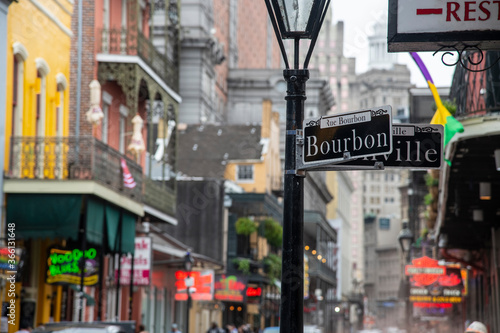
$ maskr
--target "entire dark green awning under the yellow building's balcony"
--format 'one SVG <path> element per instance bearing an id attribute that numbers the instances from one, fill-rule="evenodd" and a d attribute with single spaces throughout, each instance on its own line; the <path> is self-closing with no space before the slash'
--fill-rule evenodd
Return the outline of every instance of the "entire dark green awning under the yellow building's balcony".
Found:
<path id="1" fill-rule="evenodd" d="M 87 242 L 114 253 L 134 251 L 136 216 L 94 196 L 81 194 L 9 194 L 7 223 L 17 239 L 78 240 L 80 212 L 85 212 Z M 107 234 L 107 238 L 104 236 Z"/>

